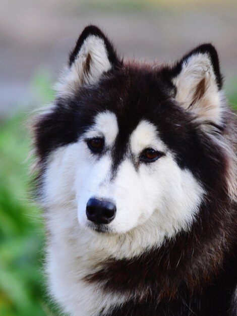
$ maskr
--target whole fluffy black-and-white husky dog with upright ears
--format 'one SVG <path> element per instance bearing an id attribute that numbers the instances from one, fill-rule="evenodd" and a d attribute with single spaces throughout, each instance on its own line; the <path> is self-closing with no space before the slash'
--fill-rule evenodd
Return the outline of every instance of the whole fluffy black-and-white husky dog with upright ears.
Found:
<path id="1" fill-rule="evenodd" d="M 237 314 L 236 131 L 211 44 L 174 64 L 123 61 L 84 29 L 34 122 L 64 312 Z"/>

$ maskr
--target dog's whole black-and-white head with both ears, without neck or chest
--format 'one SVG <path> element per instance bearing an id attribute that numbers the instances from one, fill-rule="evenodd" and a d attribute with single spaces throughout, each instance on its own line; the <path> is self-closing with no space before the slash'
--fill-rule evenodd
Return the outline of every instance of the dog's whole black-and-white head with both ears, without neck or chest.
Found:
<path id="1" fill-rule="evenodd" d="M 220 87 L 209 44 L 174 66 L 126 63 L 86 28 L 36 125 L 45 206 L 108 237 L 187 231 L 215 181 Z"/>

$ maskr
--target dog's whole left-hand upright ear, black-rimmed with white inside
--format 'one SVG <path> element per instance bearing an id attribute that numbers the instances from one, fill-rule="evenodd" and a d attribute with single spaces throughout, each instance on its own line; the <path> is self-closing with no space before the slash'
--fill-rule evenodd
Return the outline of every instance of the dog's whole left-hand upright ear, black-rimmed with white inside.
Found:
<path id="1" fill-rule="evenodd" d="M 102 31 L 93 25 L 81 33 L 69 56 L 69 65 L 55 86 L 58 94 L 74 93 L 80 86 L 96 83 L 100 76 L 122 61 Z"/>

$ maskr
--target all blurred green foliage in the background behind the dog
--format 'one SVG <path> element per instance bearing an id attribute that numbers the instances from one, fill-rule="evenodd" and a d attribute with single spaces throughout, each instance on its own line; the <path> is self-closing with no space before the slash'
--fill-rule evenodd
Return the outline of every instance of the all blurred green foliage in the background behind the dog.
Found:
<path id="1" fill-rule="evenodd" d="M 40 102 L 53 98 L 51 77 L 40 71 L 32 80 Z M 237 110 L 237 91 L 229 95 Z M 0 126 L 0 315 L 45 316 L 58 310 L 45 294 L 44 231 L 41 210 L 33 206 L 27 156 L 31 150 L 27 115 Z"/>

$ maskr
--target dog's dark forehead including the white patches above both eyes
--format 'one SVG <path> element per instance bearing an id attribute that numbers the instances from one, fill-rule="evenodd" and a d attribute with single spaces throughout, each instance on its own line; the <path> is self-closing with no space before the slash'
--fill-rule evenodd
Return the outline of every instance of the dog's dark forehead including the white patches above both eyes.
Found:
<path id="1" fill-rule="evenodd" d="M 98 85 L 84 91 L 78 126 L 83 132 L 97 129 L 108 145 L 114 145 L 117 160 L 123 160 L 128 144 L 135 152 L 155 146 L 159 139 L 171 149 L 177 135 L 187 134 L 188 115 L 150 69 L 108 74 Z"/>

